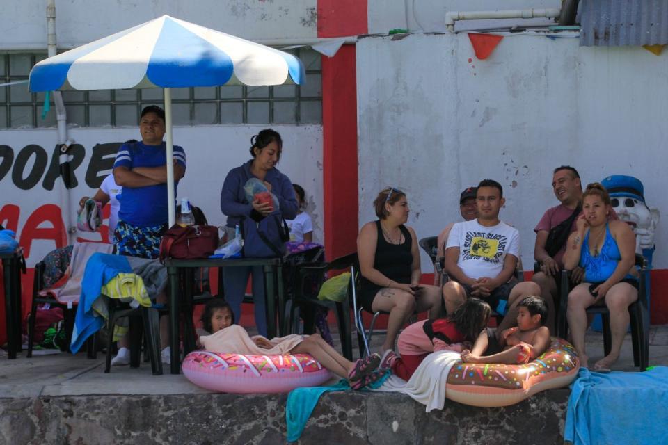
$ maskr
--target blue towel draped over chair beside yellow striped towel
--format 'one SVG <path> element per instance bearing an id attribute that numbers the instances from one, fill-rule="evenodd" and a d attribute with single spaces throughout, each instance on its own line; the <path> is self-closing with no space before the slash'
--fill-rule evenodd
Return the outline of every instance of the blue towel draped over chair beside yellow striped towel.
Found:
<path id="1" fill-rule="evenodd" d="M 95 253 L 90 256 L 81 280 L 81 297 L 74 318 L 74 330 L 70 350 L 76 354 L 88 337 L 95 334 L 104 324 L 101 316 L 93 311 L 93 302 L 100 297 L 102 286 L 113 280 L 119 273 L 132 273 L 127 257 Z"/>

